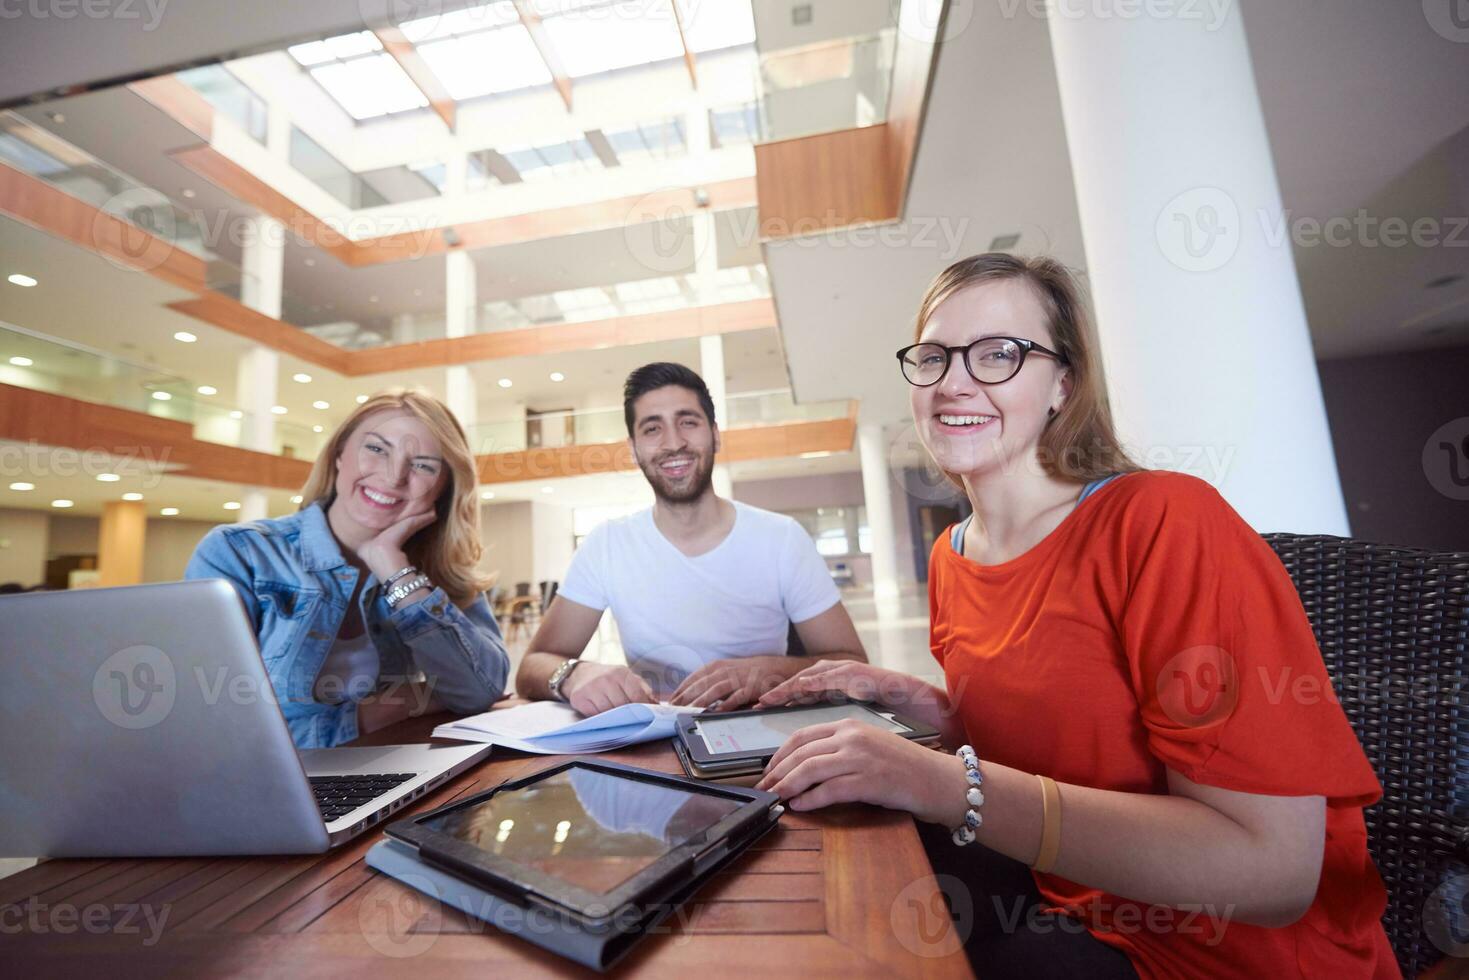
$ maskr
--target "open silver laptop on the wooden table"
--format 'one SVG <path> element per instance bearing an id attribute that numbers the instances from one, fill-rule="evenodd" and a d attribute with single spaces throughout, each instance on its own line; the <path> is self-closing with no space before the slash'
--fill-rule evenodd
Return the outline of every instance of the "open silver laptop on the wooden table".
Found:
<path id="1" fill-rule="evenodd" d="M 0 857 L 317 854 L 488 754 L 297 751 L 219 579 L 0 597 Z"/>

